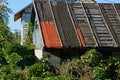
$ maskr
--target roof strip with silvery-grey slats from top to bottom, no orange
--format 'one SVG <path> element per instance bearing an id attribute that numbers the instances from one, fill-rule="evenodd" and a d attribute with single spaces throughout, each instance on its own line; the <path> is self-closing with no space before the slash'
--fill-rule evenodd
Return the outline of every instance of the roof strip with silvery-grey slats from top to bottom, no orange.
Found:
<path id="1" fill-rule="evenodd" d="M 107 28 L 107 25 L 105 24 L 106 22 L 98 5 L 95 3 L 86 3 L 83 4 L 83 6 L 86 10 L 87 16 L 89 16 L 88 19 L 98 42 L 98 46 L 114 46 L 115 44 L 113 42 L 112 36 Z"/>

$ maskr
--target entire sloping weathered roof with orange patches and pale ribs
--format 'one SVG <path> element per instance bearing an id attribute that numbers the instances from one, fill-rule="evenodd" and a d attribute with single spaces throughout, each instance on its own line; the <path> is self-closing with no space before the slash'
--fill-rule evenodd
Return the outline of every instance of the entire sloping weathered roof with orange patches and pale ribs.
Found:
<path id="1" fill-rule="evenodd" d="M 120 4 L 34 2 L 46 48 L 120 47 Z"/>

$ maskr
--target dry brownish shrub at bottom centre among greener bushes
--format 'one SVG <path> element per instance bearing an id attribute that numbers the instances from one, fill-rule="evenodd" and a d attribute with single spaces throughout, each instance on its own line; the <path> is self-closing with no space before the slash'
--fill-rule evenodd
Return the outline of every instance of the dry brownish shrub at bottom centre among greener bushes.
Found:
<path id="1" fill-rule="evenodd" d="M 93 79 L 92 67 L 83 64 L 80 59 L 73 59 L 71 62 L 60 68 L 60 74 L 65 80 L 91 80 Z"/>

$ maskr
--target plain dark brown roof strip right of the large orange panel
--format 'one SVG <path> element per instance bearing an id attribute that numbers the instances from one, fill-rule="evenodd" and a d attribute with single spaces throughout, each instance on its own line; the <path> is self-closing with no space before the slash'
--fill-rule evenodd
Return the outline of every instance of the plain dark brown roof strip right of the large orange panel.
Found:
<path id="1" fill-rule="evenodd" d="M 52 3 L 51 6 L 63 47 L 79 47 L 80 43 L 66 3 Z"/>

